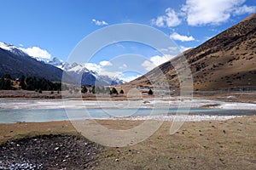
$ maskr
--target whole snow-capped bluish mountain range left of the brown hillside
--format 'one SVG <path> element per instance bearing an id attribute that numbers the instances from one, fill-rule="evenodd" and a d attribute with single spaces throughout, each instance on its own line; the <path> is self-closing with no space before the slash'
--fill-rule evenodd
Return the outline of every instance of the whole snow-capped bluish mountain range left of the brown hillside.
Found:
<path id="1" fill-rule="evenodd" d="M 118 78 L 102 76 L 95 71 L 89 71 L 77 63 L 69 64 L 57 58 L 48 61 L 33 58 L 14 45 L 0 42 L 0 76 L 5 74 L 16 78 L 22 75 L 44 77 L 55 82 L 61 82 L 62 76 L 65 75 L 64 82 L 81 82 L 83 85 L 107 86 L 124 83 Z"/>

